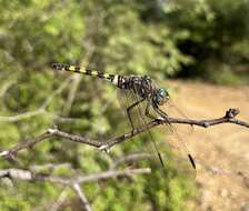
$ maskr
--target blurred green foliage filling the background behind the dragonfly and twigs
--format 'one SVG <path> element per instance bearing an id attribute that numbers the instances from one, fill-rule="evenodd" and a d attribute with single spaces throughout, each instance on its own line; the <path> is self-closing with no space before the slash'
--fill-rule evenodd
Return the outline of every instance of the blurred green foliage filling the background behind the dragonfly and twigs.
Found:
<path id="1" fill-rule="evenodd" d="M 52 61 L 160 81 L 181 78 L 228 86 L 249 81 L 248 0 L 0 2 L 0 115 L 14 117 L 0 118 L 0 150 L 54 124 L 99 140 L 128 130 L 114 89 L 91 78 L 58 73 L 50 68 Z M 163 134 L 153 133 L 163 140 Z M 140 145 L 139 140 L 120 144 L 111 158 Z M 21 152 L 18 164 L 1 160 L 0 168 L 70 163 L 88 174 L 107 170 L 111 158 L 83 144 L 51 139 Z M 177 211 L 198 194 L 173 164 L 167 172 L 149 161 L 138 165 L 150 165 L 151 175 L 84 184 L 92 208 Z M 56 173 L 72 175 L 67 168 Z M 0 187 L 1 211 L 49 210 L 63 189 L 24 181 Z M 79 210 L 76 207 L 77 198 L 69 191 L 60 210 Z"/>

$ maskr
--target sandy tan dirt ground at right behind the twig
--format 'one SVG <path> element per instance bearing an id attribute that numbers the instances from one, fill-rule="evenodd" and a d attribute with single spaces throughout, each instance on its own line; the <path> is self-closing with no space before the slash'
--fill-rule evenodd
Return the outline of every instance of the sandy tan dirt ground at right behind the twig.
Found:
<path id="1" fill-rule="evenodd" d="M 200 82 L 168 82 L 175 103 L 190 119 L 212 119 L 239 108 L 249 121 L 249 87 L 228 88 Z M 196 157 L 199 197 L 193 210 L 242 211 L 249 205 L 249 130 L 236 124 L 195 127 L 188 147 Z M 207 168 L 217 170 L 215 173 Z M 242 172 L 242 173 L 238 173 Z"/>

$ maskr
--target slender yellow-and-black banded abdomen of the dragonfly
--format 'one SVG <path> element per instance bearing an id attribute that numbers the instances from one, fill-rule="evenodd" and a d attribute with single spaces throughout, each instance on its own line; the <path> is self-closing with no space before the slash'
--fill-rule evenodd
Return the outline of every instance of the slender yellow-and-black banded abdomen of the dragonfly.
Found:
<path id="1" fill-rule="evenodd" d="M 104 79 L 108 80 L 112 83 L 117 83 L 118 81 L 118 76 L 114 74 L 109 74 L 109 73 L 104 73 L 101 71 L 96 71 L 96 70 L 90 70 L 88 68 L 80 68 L 80 67 L 76 67 L 76 66 L 69 66 L 69 64 L 61 64 L 61 63 L 53 63 L 52 67 L 57 70 L 60 71 L 70 71 L 70 72 L 78 72 L 81 74 L 87 74 L 90 77 L 98 77 L 100 79 Z"/>

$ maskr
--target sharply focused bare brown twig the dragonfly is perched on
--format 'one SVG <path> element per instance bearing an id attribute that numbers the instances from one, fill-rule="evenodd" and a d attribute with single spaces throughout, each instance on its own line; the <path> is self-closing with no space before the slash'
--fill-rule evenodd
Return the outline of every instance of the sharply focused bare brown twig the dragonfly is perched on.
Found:
<path id="1" fill-rule="evenodd" d="M 233 124 L 249 128 L 249 123 L 236 119 L 236 115 L 238 113 L 239 113 L 238 109 L 229 109 L 223 117 L 218 118 L 218 119 L 211 119 L 211 120 L 190 120 L 190 119 L 178 119 L 178 118 L 170 118 L 170 117 L 167 119 L 152 120 L 145 127 L 138 128 L 132 132 L 124 133 L 120 137 L 116 137 L 106 142 L 88 139 L 88 138 L 84 138 L 81 135 L 70 134 L 70 133 L 61 131 L 57 128 L 48 129 L 44 133 L 38 135 L 37 138 L 34 138 L 31 141 L 20 142 L 19 144 L 17 144 L 16 147 L 13 147 L 9 150 L 1 151 L 0 157 L 13 158 L 17 154 L 17 152 L 19 152 L 23 149 L 31 148 L 32 145 L 34 145 L 48 138 L 51 138 L 51 137 L 63 138 L 69 141 L 84 143 L 84 144 L 88 144 L 91 147 L 99 148 L 100 150 L 108 151 L 111 147 L 113 147 L 118 143 L 121 143 L 123 141 L 127 141 L 127 140 L 131 139 L 132 137 L 135 137 L 139 133 L 142 133 L 143 131 L 146 131 L 148 129 L 160 125 L 162 123 L 182 123 L 182 124 L 191 124 L 191 125 L 198 125 L 198 127 L 203 127 L 203 128 L 208 128 L 208 127 L 221 124 L 221 123 L 233 123 Z"/>

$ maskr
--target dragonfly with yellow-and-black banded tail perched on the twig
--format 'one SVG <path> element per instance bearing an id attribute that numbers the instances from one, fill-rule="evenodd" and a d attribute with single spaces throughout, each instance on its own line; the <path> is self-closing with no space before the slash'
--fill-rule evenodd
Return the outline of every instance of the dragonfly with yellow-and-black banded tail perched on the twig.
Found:
<path id="1" fill-rule="evenodd" d="M 136 119 L 133 115 L 133 110 L 136 108 L 139 108 L 139 115 L 141 119 L 143 119 L 141 122 L 142 125 L 146 124 L 146 120 L 142 117 L 146 117 L 150 120 L 158 120 L 162 121 L 166 120 L 166 124 L 170 128 L 170 130 L 175 133 L 177 133 L 176 129 L 172 127 L 170 122 L 167 121 L 168 114 L 160 108 L 163 104 L 167 104 L 170 100 L 169 92 L 159 86 L 148 76 L 121 76 L 121 74 L 111 74 L 106 73 L 102 71 L 96 71 L 92 69 L 89 69 L 88 67 L 78 67 L 78 66 L 71 66 L 71 64 L 62 64 L 62 63 L 52 63 L 52 68 L 59 71 L 69 71 L 74 73 L 81 73 L 90 77 L 96 77 L 103 79 L 114 87 L 117 87 L 119 90 L 122 90 L 126 96 L 130 96 L 133 100 L 132 103 L 129 103 L 126 107 L 128 120 L 131 125 L 131 132 L 133 133 L 136 130 Z M 127 97 L 128 98 L 128 97 Z M 142 107 L 141 107 L 142 104 Z M 152 111 L 152 112 L 151 112 Z M 149 129 L 148 129 L 149 132 Z M 155 151 L 157 153 L 157 157 L 161 163 L 162 167 L 165 167 L 165 162 L 162 159 L 162 155 L 158 149 L 158 145 L 152 138 L 152 134 L 149 132 L 150 139 L 152 141 L 152 145 L 155 148 Z M 181 140 L 181 138 L 177 133 L 177 138 Z M 196 163 L 192 158 L 192 155 L 189 153 L 189 150 L 183 144 L 185 151 L 187 152 L 188 159 L 192 165 L 193 169 L 196 169 Z"/>

